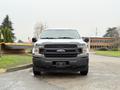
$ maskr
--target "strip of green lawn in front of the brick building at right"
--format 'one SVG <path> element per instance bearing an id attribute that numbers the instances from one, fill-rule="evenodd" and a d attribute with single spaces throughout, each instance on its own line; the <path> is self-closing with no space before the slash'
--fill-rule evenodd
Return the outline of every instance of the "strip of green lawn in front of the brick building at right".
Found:
<path id="1" fill-rule="evenodd" d="M 120 57 L 120 51 L 96 51 L 97 55 Z"/>

